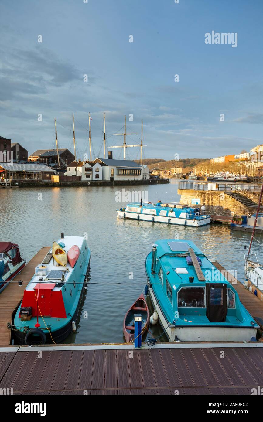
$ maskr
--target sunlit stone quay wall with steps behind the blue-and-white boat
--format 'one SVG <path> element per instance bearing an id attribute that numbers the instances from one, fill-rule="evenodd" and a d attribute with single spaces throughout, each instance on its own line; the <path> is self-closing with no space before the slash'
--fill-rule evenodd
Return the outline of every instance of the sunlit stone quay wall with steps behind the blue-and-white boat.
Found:
<path id="1" fill-rule="evenodd" d="M 247 215 L 255 212 L 255 208 L 244 206 L 239 201 L 220 191 L 196 191 L 178 189 L 181 195 L 180 203 L 191 206 L 192 199 L 200 199 L 200 206 L 205 205 L 206 211 L 216 215 L 231 215 L 234 212 L 237 215 Z"/>

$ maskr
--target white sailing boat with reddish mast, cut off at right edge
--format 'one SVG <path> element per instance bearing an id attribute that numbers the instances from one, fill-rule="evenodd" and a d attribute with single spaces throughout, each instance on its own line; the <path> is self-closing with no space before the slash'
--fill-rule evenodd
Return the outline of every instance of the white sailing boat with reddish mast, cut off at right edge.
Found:
<path id="1" fill-rule="evenodd" d="M 252 228 L 252 234 L 251 239 L 249 243 L 249 249 L 247 252 L 246 246 L 244 246 L 244 271 L 245 271 L 245 286 L 249 288 L 251 292 L 254 293 L 254 295 L 258 296 L 260 300 L 263 300 L 263 265 L 260 265 L 258 262 L 258 257 L 254 251 L 252 251 L 252 241 L 254 239 L 256 230 L 257 230 L 257 224 L 258 224 L 258 217 L 260 219 L 260 223 L 262 224 L 262 216 L 263 214 L 259 214 L 260 210 L 260 204 L 261 199 L 263 195 L 263 184 L 260 192 L 260 197 L 258 200 L 258 208 L 255 214 L 253 214 L 254 217 L 254 225 Z"/>

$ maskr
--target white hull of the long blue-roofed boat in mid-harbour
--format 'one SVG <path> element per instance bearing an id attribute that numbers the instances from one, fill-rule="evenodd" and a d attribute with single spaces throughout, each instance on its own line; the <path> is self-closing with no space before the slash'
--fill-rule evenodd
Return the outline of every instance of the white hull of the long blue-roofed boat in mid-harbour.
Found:
<path id="1" fill-rule="evenodd" d="M 205 216 L 201 220 L 194 220 L 190 218 L 165 217 L 165 216 L 157 216 L 157 215 L 151 215 L 151 214 L 138 214 L 136 212 L 129 212 L 129 211 L 117 211 L 117 213 L 118 213 L 118 216 L 120 217 L 124 217 L 124 214 L 125 214 L 125 218 L 130 218 L 133 220 L 152 221 L 152 222 L 166 223 L 166 224 L 177 224 L 181 226 L 191 226 L 191 227 L 205 226 L 211 222 L 210 216 Z"/>

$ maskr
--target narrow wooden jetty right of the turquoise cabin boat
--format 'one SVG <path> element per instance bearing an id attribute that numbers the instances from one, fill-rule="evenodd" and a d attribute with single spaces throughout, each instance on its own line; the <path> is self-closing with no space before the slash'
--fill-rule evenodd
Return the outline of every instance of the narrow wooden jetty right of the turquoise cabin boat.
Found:
<path id="1" fill-rule="evenodd" d="M 231 274 L 228 273 L 218 262 L 213 262 L 213 264 L 218 270 L 221 272 L 223 271 L 226 279 L 233 284 L 233 287 L 238 292 L 239 299 L 243 303 L 244 307 L 249 311 L 249 314 L 255 318 L 260 325 L 260 328 L 263 330 L 263 301 L 250 292 L 249 289 L 246 289 L 244 284 L 231 276 Z"/>

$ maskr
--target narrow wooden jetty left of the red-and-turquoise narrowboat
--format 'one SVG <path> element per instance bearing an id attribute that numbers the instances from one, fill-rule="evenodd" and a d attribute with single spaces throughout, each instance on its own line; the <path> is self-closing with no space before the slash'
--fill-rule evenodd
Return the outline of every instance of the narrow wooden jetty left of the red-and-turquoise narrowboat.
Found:
<path id="1" fill-rule="evenodd" d="M 35 256 L 28 262 L 0 294 L 0 345 L 7 346 L 10 344 L 11 330 L 8 330 L 7 323 L 12 323 L 12 314 L 16 306 L 22 300 L 24 289 L 32 279 L 35 273 L 35 267 L 43 260 L 50 249 L 50 246 L 45 246 L 35 254 Z M 17 281 L 22 280 L 22 287 L 19 287 Z"/>

